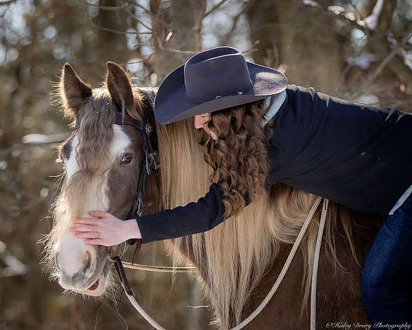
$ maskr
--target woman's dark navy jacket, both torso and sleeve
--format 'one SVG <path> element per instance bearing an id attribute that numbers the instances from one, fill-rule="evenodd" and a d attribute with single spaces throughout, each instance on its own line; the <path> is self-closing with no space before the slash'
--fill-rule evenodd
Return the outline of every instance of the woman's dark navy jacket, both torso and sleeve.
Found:
<path id="1" fill-rule="evenodd" d="M 386 217 L 412 184 L 412 115 L 288 85 L 268 144 L 265 187 L 280 181 L 352 210 Z M 247 200 L 247 203 L 250 201 Z M 137 218 L 142 242 L 205 232 L 225 221 L 222 190 Z"/>

